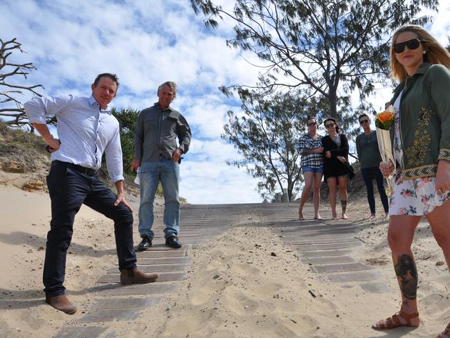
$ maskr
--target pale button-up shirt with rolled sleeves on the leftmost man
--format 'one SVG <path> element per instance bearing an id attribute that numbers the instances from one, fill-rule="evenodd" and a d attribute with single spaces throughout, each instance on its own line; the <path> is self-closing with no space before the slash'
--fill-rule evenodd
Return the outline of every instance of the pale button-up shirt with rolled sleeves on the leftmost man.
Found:
<path id="1" fill-rule="evenodd" d="M 72 95 L 35 97 L 24 107 L 31 123 L 45 124 L 45 116 L 56 116 L 61 145 L 51 154 L 52 161 L 98 170 L 105 152 L 111 182 L 123 180 L 119 123 L 108 107 L 100 109 L 93 96 Z"/>

